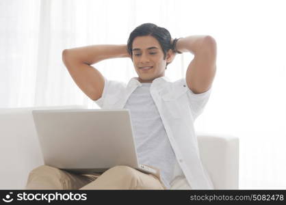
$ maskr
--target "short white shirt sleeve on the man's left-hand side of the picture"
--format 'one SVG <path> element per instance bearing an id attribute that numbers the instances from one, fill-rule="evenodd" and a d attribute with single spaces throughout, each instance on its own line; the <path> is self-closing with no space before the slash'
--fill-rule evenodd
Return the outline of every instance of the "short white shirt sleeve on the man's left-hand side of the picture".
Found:
<path id="1" fill-rule="evenodd" d="M 112 105 L 120 98 L 120 92 L 124 87 L 125 83 L 111 81 L 104 77 L 103 94 L 101 98 L 93 101 L 101 108 L 105 107 L 105 105 Z"/>

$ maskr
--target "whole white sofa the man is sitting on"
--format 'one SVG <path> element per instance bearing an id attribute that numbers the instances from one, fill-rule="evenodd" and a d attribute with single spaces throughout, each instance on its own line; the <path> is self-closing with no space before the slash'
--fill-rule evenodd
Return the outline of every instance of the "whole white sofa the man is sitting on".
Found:
<path id="1" fill-rule="evenodd" d="M 31 111 L 88 109 L 81 105 L 0 109 L 0 189 L 25 189 L 31 169 L 43 164 Z M 239 139 L 197 133 L 203 165 L 215 189 L 238 189 Z"/>

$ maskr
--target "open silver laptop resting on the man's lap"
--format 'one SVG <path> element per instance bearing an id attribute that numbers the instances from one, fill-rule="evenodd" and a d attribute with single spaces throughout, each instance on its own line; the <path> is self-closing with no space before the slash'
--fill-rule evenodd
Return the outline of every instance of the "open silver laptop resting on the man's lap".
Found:
<path id="1" fill-rule="evenodd" d="M 128 109 L 46 109 L 31 113 L 45 165 L 85 174 L 127 165 L 157 174 L 156 169 L 138 163 Z"/>

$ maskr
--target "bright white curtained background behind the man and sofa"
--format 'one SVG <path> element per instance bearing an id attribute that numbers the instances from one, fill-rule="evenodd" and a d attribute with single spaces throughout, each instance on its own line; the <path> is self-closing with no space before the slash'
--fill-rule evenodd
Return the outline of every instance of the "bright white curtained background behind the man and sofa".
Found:
<path id="1" fill-rule="evenodd" d="M 62 51 L 127 44 L 142 23 L 172 38 L 210 35 L 218 45 L 216 78 L 196 131 L 240 139 L 239 189 L 286 188 L 285 1 L 0 0 L 0 107 L 96 105 L 62 63 Z M 190 53 L 166 76 L 185 77 Z M 135 77 L 131 59 L 94 65 L 108 79 Z"/>

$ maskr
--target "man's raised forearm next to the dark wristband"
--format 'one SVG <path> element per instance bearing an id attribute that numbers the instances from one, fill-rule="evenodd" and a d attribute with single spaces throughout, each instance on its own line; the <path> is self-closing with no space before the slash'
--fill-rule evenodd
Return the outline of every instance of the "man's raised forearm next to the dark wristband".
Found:
<path id="1" fill-rule="evenodd" d="M 190 52 L 195 55 L 203 48 L 207 38 L 210 38 L 210 36 L 196 35 L 181 38 L 177 41 L 176 49 L 177 51 Z"/>

